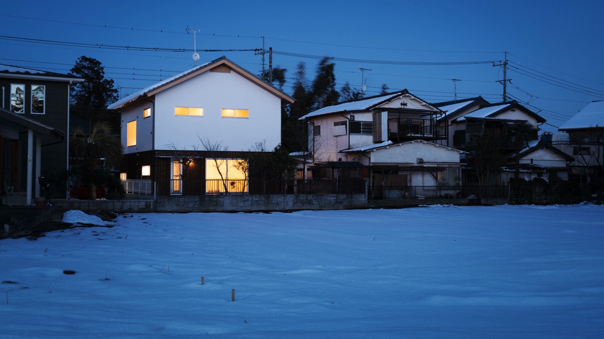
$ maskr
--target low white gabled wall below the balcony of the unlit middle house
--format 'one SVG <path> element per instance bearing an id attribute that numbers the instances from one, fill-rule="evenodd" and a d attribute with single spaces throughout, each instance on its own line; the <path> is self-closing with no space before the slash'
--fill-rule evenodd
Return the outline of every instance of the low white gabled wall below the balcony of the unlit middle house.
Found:
<path id="1" fill-rule="evenodd" d="M 369 152 L 373 163 L 416 163 L 417 158 L 424 162 L 459 162 L 460 154 L 457 150 L 446 147 L 437 147 L 434 144 L 422 142 L 408 142 L 392 147 L 380 148 Z"/>

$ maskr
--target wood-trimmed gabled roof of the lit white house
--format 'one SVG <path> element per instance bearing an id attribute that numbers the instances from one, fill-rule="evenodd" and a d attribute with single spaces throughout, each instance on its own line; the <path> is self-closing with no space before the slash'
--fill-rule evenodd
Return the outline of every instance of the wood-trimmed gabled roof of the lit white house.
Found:
<path id="1" fill-rule="evenodd" d="M 246 69 L 243 69 L 242 67 L 240 67 L 236 63 L 232 62 L 231 60 L 226 59 L 225 56 L 222 56 L 216 60 L 205 63 L 204 65 L 196 66 L 192 69 L 189 69 L 188 71 L 182 72 L 181 74 L 177 74 L 164 81 L 160 81 L 159 83 L 152 84 L 149 87 L 138 90 L 138 92 L 134 92 L 125 98 L 121 98 L 120 100 L 116 101 L 115 103 L 109 105 L 107 108 L 110 110 L 121 109 L 122 107 L 127 106 L 135 101 L 141 100 L 142 98 L 151 97 L 152 95 L 155 95 L 156 93 L 159 93 L 162 90 L 169 89 L 170 87 L 175 86 L 176 84 L 182 83 L 185 80 L 188 80 L 188 79 L 190 79 L 196 75 L 202 74 L 204 72 L 210 71 L 210 69 L 216 68 L 221 65 L 224 65 L 224 66 L 230 68 L 232 71 L 234 71 L 237 74 L 241 75 L 242 77 L 248 79 L 252 83 L 255 83 L 258 86 L 263 87 L 264 89 L 268 90 L 268 92 L 271 92 L 273 95 L 280 98 L 281 102 L 283 104 L 294 103 L 294 99 L 292 97 L 290 97 L 289 95 L 287 95 L 282 90 L 278 89 L 277 87 L 272 86 L 271 84 L 265 83 L 265 81 L 263 81 L 256 75 L 251 74 Z"/>

